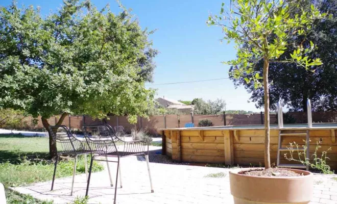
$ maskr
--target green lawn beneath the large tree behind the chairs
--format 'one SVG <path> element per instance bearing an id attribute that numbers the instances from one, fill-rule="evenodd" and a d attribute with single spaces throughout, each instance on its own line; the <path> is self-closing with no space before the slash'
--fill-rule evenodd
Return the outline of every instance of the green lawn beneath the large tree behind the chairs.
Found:
<path id="1" fill-rule="evenodd" d="M 0 183 L 5 186 L 8 204 L 50 203 L 21 195 L 8 188 L 52 180 L 54 163 L 48 160 L 48 142 L 48 138 L 44 137 L 0 135 Z M 59 162 L 56 176 L 72 175 L 73 167 L 72 160 Z M 77 173 L 84 173 L 83 158 L 79 160 L 76 170 Z M 93 171 L 100 170 L 103 170 L 103 166 L 94 163 Z"/>

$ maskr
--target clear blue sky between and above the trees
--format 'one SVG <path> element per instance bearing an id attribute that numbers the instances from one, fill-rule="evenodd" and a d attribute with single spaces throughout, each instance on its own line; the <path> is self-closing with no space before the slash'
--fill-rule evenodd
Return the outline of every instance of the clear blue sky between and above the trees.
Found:
<path id="1" fill-rule="evenodd" d="M 3 0 L 2 6 L 11 4 Z M 61 0 L 18 0 L 19 5 L 41 7 L 47 15 L 50 10 L 57 11 Z M 232 81 L 218 80 L 199 83 L 160 85 L 155 84 L 198 81 L 228 78 L 229 66 L 222 64 L 235 58 L 233 44 L 220 43 L 220 28 L 208 27 L 209 13 L 218 14 L 224 0 L 121 0 L 125 7 L 132 8 L 142 28 L 157 31 L 150 36 L 153 47 L 160 54 L 155 58 L 157 68 L 154 83 L 147 85 L 157 89 L 158 97 L 192 100 L 201 97 L 206 100 L 222 98 L 226 100 L 227 110 L 260 111 L 253 103 L 248 103 L 250 94 L 243 87 L 235 89 Z M 113 11 L 118 11 L 115 1 L 92 0 L 99 9 L 107 3 Z M 229 5 L 229 1 L 225 0 Z"/>

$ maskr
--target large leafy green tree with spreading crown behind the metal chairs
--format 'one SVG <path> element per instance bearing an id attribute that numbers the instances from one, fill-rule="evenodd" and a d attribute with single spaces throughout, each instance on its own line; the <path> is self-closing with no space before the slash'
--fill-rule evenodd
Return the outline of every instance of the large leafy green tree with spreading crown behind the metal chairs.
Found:
<path id="1" fill-rule="evenodd" d="M 33 117 L 87 114 L 146 116 L 154 91 L 151 81 L 156 50 L 125 9 L 114 14 L 89 1 L 64 1 L 42 17 L 39 8 L 0 8 L 0 108 Z M 50 155 L 56 144 L 50 135 Z"/>

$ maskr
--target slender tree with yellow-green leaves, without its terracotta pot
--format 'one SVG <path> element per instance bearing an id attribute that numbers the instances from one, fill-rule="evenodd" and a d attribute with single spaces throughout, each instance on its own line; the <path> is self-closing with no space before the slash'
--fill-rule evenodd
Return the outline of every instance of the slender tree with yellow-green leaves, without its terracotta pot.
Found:
<path id="1" fill-rule="evenodd" d="M 315 44 L 305 47 L 299 44 L 290 56 L 282 59 L 288 48 L 288 39 L 294 36 L 306 36 L 312 24 L 321 18 L 314 5 L 310 11 L 300 9 L 300 1 L 273 0 L 236 0 L 232 1 L 229 12 L 225 13 L 224 3 L 220 15 L 210 15 L 209 25 L 219 25 L 224 40 L 234 41 L 237 58 L 228 62 L 232 65 L 234 78 L 244 78 L 247 83 L 253 81 L 255 88 L 261 86 L 263 79 L 264 95 L 264 165 L 270 168 L 270 107 L 269 107 L 269 64 L 297 63 L 306 70 L 321 65 L 320 59 L 310 59 L 307 54 L 315 49 Z M 293 10 L 298 10 L 291 16 Z M 263 70 L 257 72 L 256 64 L 263 59 Z M 253 74 L 252 74 L 253 73 Z"/>

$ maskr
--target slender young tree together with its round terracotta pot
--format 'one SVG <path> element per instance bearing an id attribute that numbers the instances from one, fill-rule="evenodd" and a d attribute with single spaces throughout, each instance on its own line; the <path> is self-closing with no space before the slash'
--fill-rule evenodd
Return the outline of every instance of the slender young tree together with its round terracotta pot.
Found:
<path id="1" fill-rule="evenodd" d="M 315 19 L 325 14 L 311 5 L 301 8 L 302 1 L 282 0 L 233 0 L 229 11 L 222 4 L 220 15 L 209 15 L 207 23 L 218 25 L 225 36 L 223 40 L 234 41 L 237 58 L 228 62 L 233 78 L 253 82 L 255 88 L 264 91 L 264 166 L 265 168 L 237 169 L 230 172 L 231 194 L 234 202 L 240 203 L 308 203 L 312 196 L 312 174 L 296 169 L 271 168 L 270 162 L 270 117 L 269 81 L 270 63 L 297 63 L 306 70 L 321 65 L 320 59 L 309 59 L 315 49 L 314 43 L 305 46 L 306 35 Z M 292 39 L 303 39 L 294 45 Z M 284 56 L 286 49 L 290 56 Z M 263 73 L 255 66 L 263 62 Z"/>

